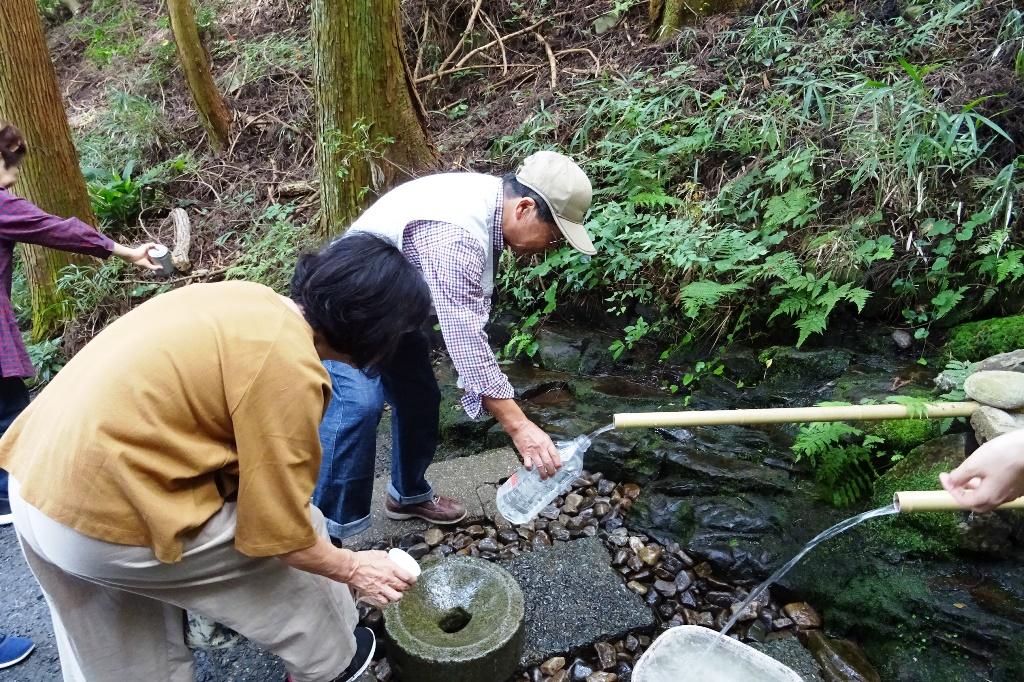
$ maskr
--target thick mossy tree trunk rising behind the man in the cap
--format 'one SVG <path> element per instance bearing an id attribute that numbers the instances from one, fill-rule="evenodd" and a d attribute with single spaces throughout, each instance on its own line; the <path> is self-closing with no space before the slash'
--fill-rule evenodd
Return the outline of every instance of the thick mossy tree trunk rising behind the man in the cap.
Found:
<path id="1" fill-rule="evenodd" d="M 367 201 L 431 169 L 437 152 L 406 62 L 398 0 L 313 0 L 322 227 L 337 235 Z"/>

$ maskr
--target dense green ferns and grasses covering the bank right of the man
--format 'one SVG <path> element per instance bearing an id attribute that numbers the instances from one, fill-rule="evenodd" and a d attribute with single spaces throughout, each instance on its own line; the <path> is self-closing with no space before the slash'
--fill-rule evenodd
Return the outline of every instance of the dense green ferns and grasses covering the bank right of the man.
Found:
<path id="1" fill-rule="evenodd" d="M 1017 45 L 1009 7 L 999 37 L 979 11 L 934 0 L 919 20 L 883 27 L 782 0 L 701 54 L 722 75 L 714 90 L 693 84 L 685 52 L 578 84 L 492 153 L 510 167 L 552 145 L 582 160 L 599 254 L 519 261 L 501 275 L 505 305 L 532 328 L 558 282 L 560 306 L 603 303 L 618 321 L 609 351 L 621 355 L 640 339 L 777 334 L 782 322 L 804 345 L 868 302 L 926 339 L 1021 295 L 1012 214 L 1024 163 L 1006 161 L 1017 141 L 998 95 L 965 103 L 933 84 L 959 57 L 944 36 Z"/>

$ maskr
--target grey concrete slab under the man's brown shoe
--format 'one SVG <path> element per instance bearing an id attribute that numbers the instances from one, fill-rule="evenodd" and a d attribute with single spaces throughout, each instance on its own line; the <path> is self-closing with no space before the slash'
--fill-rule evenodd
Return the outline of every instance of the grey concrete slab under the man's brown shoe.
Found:
<path id="1" fill-rule="evenodd" d="M 457 498 L 466 503 L 468 518 L 483 518 L 494 510 L 495 493 L 499 481 L 519 468 L 519 458 L 511 447 L 499 447 L 479 455 L 435 462 L 427 469 L 427 480 L 439 495 Z M 392 521 L 384 515 L 387 496 L 387 473 L 374 481 L 373 522 L 371 526 L 345 540 L 345 546 L 364 549 L 381 541 L 394 542 L 409 532 L 422 532 L 430 527 L 426 521 L 412 519 Z"/>

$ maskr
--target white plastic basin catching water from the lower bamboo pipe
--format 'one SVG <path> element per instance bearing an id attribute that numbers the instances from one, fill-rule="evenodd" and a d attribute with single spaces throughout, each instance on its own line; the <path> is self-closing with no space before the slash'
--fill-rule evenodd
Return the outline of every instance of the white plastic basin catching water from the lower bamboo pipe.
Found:
<path id="1" fill-rule="evenodd" d="M 771 656 L 699 626 L 670 628 L 633 670 L 633 682 L 802 682 Z"/>

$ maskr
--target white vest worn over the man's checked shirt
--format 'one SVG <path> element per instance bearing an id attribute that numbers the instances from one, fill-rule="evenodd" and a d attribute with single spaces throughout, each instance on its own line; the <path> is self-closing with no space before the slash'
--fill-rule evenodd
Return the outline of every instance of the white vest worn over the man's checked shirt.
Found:
<path id="1" fill-rule="evenodd" d="M 480 285 L 484 296 L 495 289 L 495 216 L 501 178 L 482 173 L 439 173 L 410 180 L 391 189 L 367 209 L 349 232 L 380 235 L 401 249 L 406 226 L 417 220 L 450 222 L 480 243 L 486 254 Z"/>

